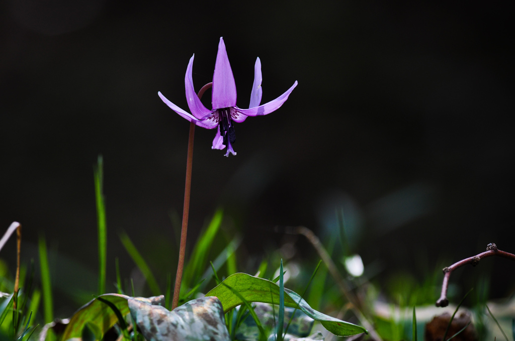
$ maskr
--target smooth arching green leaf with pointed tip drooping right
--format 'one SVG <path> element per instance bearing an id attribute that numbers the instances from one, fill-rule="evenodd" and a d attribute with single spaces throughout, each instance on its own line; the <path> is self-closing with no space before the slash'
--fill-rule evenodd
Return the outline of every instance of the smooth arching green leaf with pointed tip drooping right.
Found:
<path id="1" fill-rule="evenodd" d="M 216 296 L 228 312 L 243 301 L 234 294 L 238 292 L 248 302 L 279 303 L 279 285 L 269 280 L 253 277 L 247 274 L 234 274 L 227 277 L 205 296 Z M 284 305 L 302 310 L 307 316 L 320 321 L 325 329 L 338 336 L 350 336 L 359 333 L 368 333 L 363 327 L 322 314 L 311 308 L 306 301 L 295 292 L 284 289 Z M 298 304 L 297 304 L 298 303 Z"/>

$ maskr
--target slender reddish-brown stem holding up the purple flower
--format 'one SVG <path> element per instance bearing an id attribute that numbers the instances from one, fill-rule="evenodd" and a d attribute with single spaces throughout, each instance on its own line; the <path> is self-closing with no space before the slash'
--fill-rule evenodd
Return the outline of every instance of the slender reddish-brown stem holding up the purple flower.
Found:
<path id="1" fill-rule="evenodd" d="M 204 92 L 213 83 L 202 86 L 198 92 L 198 98 L 202 98 Z M 177 275 L 175 276 L 174 299 L 171 302 L 171 310 L 177 308 L 179 304 L 179 293 L 181 291 L 182 270 L 184 268 L 184 255 L 186 253 L 186 235 L 188 231 L 188 216 L 190 214 L 190 189 L 192 184 L 192 165 L 193 165 L 193 137 L 195 135 L 195 122 L 190 122 L 190 138 L 188 138 L 188 156 L 186 160 L 186 183 L 184 185 L 184 208 L 182 210 L 181 243 L 179 246 L 179 262 L 177 264 Z"/>

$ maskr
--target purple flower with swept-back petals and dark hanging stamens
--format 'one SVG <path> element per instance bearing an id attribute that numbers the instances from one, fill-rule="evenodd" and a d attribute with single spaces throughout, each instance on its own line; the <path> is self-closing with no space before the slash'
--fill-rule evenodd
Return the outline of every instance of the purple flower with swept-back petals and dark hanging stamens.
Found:
<path id="1" fill-rule="evenodd" d="M 180 107 L 170 102 L 161 92 L 159 97 L 173 111 L 181 115 L 190 122 L 195 123 L 199 127 L 213 129 L 218 127 L 215 139 L 213 140 L 213 149 L 224 149 L 227 147 L 225 156 L 229 156 L 229 152 L 236 155 L 232 149 L 232 143 L 236 140 L 234 133 L 234 122 L 241 123 L 245 121 L 247 116 L 261 116 L 270 114 L 272 111 L 279 109 L 281 105 L 288 99 L 289 94 L 297 86 L 297 81 L 278 98 L 266 104 L 260 105 L 263 90 L 261 88 L 261 61 L 258 57 L 254 65 L 254 84 L 252 84 L 252 92 L 250 93 L 249 109 L 241 109 L 236 106 L 236 83 L 232 75 L 231 65 L 227 57 L 224 40 L 220 38 L 218 43 L 218 53 L 216 55 L 215 71 L 213 73 L 213 87 L 211 93 L 212 110 L 207 109 L 193 87 L 192 68 L 193 58 L 190 59 L 186 68 L 186 77 L 184 84 L 186 87 L 186 99 L 190 107 L 191 114 L 182 110 Z"/>

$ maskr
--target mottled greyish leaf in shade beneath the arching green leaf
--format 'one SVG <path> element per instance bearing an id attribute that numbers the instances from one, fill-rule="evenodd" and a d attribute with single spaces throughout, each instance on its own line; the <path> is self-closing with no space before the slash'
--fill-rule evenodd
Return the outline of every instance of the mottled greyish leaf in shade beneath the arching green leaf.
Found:
<path id="1" fill-rule="evenodd" d="M 261 325 L 265 330 L 272 330 L 278 319 L 278 306 L 273 306 L 268 303 L 256 302 L 254 303 L 254 313 L 258 316 L 261 321 Z M 241 309 L 241 307 L 240 307 Z M 275 311 L 273 311 L 275 310 Z M 286 330 L 286 326 L 290 320 L 291 314 L 295 311 L 293 320 L 288 327 L 288 337 L 306 337 L 310 334 L 314 319 L 304 314 L 301 310 L 295 310 L 294 308 L 286 307 L 284 309 L 284 325 L 283 330 Z M 247 316 L 241 324 L 239 324 L 236 331 L 236 339 L 239 341 L 255 341 L 259 339 L 259 328 L 256 326 L 252 316 Z"/>

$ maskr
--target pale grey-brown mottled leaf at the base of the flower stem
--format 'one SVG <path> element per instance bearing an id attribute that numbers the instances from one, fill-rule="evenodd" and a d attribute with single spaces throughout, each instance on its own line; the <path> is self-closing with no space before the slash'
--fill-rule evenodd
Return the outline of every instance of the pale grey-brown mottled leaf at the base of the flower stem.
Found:
<path id="1" fill-rule="evenodd" d="M 216 297 L 202 297 L 173 311 L 129 299 L 131 316 L 148 341 L 230 341 L 224 310 Z"/>

